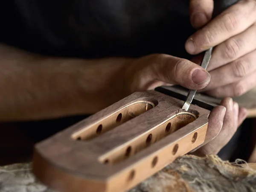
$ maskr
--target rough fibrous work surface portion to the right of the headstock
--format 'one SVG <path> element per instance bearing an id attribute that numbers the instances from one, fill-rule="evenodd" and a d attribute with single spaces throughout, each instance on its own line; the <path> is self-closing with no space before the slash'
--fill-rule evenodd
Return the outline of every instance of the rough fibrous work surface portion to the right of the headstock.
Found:
<path id="1" fill-rule="evenodd" d="M 256 171 L 217 156 L 184 156 L 131 192 L 254 192 Z"/>

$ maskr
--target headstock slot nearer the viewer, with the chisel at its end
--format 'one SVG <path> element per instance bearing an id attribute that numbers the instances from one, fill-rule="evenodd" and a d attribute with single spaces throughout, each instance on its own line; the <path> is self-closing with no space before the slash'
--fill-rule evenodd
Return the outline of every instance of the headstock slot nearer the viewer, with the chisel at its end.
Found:
<path id="1" fill-rule="evenodd" d="M 167 137 L 168 135 L 174 133 L 180 128 L 188 125 L 189 123 L 195 121 L 199 116 L 198 111 L 177 111 L 176 114 L 166 121 L 162 122 L 158 126 L 152 128 L 145 134 L 141 134 L 136 139 L 131 142 L 127 142 L 119 147 L 118 149 L 113 149 L 107 154 L 99 157 L 99 161 L 108 165 L 115 165 L 120 163 L 129 157 L 143 151 L 144 148 L 154 145 L 158 141 Z M 195 143 L 197 136 L 193 137 L 192 143 Z M 177 152 L 177 146 L 174 148 L 173 153 Z"/>

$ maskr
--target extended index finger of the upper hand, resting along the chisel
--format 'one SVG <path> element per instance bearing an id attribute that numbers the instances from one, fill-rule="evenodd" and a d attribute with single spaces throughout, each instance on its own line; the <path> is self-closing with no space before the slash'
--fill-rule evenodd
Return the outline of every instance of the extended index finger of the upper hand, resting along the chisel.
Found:
<path id="1" fill-rule="evenodd" d="M 188 38 L 185 49 L 198 54 L 243 32 L 256 21 L 256 1 L 241 0 Z"/>

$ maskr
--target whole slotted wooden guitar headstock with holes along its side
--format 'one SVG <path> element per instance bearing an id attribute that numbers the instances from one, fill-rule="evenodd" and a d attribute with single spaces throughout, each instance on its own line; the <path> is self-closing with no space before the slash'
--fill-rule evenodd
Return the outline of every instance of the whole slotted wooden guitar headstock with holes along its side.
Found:
<path id="1" fill-rule="evenodd" d="M 33 172 L 61 192 L 128 190 L 204 142 L 210 111 L 182 105 L 134 93 L 35 145 Z"/>

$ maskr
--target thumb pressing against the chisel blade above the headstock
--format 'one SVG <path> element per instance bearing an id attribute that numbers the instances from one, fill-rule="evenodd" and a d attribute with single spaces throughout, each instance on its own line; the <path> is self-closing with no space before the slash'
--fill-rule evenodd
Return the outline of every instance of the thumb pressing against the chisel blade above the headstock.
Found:
<path id="1" fill-rule="evenodd" d="M 178 84 L 188 89 L 202 89 L 209 84 L 210 74 L 198 64 L 171 55 L 154 54 L 134 63 L 132 74 L 136 91 L 164 84 Z M 140 67 L 139 67 L 140 66 Z M 135 70 L 136 68 L 136 70 Z"/>

